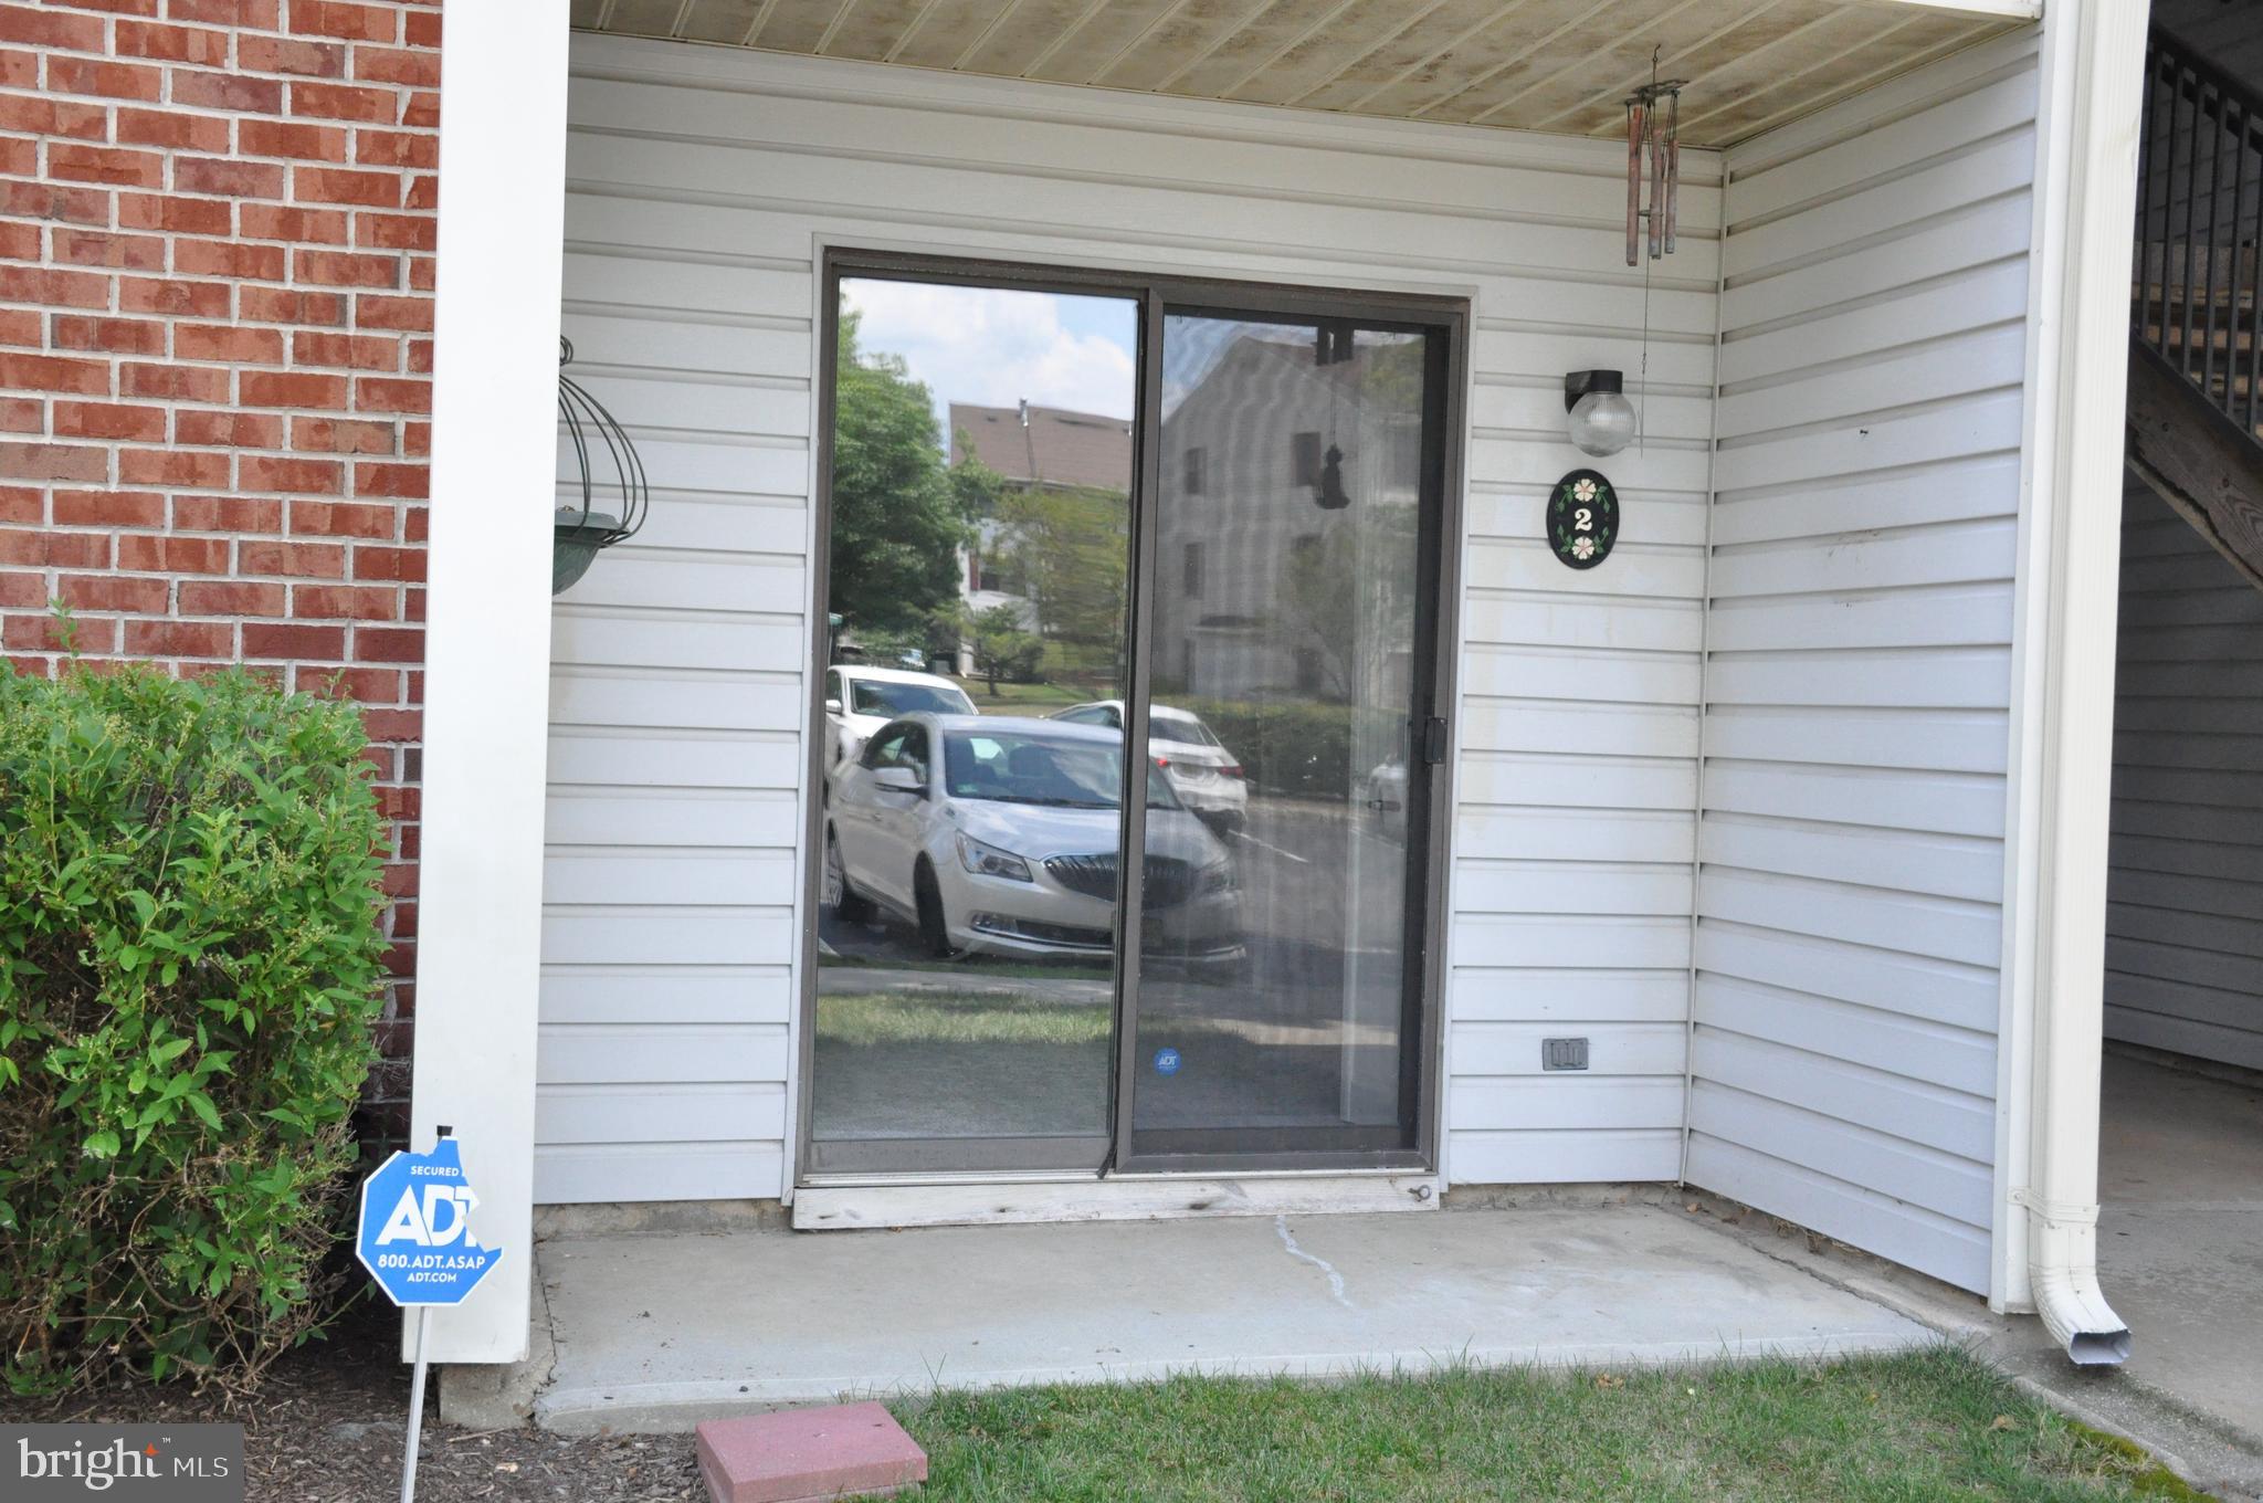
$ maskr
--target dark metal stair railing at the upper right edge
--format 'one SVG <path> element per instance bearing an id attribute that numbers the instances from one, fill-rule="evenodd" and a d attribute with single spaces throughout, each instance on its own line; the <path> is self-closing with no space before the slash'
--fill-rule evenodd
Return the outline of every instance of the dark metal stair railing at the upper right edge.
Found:
<path id="1" fill-rule="evenodd" d="M 2263 91 L 2184 52 L 2145 45 L 2136 278 L 2129 328 L 2225 416 L 2263 416 Z"/>

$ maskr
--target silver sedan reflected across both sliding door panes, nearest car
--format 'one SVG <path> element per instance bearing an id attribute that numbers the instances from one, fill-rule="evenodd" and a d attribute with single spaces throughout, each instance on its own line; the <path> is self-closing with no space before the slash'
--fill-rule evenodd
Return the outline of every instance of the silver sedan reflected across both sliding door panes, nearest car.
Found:
<path id="1" fill-rule="evenodd" d="M 824 903 L 919 926 L 935 955 L 1107 955 L 1116 944 L 1122 736 L 1005 715 L 905 715 L 835 770 Z M 1240 953 L 1233 858 L 1147 776 L 1147 946 Z"/>

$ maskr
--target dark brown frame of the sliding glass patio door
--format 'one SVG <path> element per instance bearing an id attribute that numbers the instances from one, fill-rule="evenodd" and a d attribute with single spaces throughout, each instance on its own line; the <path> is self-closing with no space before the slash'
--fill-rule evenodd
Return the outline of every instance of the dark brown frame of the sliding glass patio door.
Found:
<path id="1" fill-rule="evenodd" d="M 826 620 L 831 609 L 833 552 L 833 426 L 840 360 L 840 285 L 844 278 L 907 281 L 923 285 L 996 287 L 1007 292 L 1057 292 L 1066 297 L 1118 297 L 1138 306 L 1138 394 L 1132 412 L 1132 493 L 1129 493 L 1129 591 L 1127 643 L 1129 684 L 1125 684 L 1125 747 L 1147 738 L 1147 690 L 1154 620 L 1156 521 L 1161 507 L 1163 444 L 1163 310 L 1233 310 L 1238 317 L 1283 315 L 1290 319 L 1337 319 L 1353 326 L 1419 328 L 1444 340 L 1444 355 L 1426 362 L 1426 380 L 1437 380 L 1435 401 L 1423 412 L 1423 484 L 1419 527 L 1419 600 L 1430 602 L 1430 643 L 1417 641 L 1417 686 L 1408 747 L 1408 878 L 1421 885 L 1421 901 L 1408 903 L 1408 1005 L 1417 1012 L 1405 1030 L 1412 1059 L 1401 1048 L 1403 1091 L 1414 1093 L 1410 1148 L 1394 1150 L 1285 1150 L 1224 1154 L 1147 1154 L 1127 1157 L 1132 1145 L 1134 1057 L 1132 1005 L 1138 996 L 1141 969 L 1141 887 L 1118 881 L 1116 933 L 1116 1000 L 1113 1000 L 1113 1071 L 1109 1071 L 1109 1148 L 1098 1170 L 1046 1163 L 1070 1145 L 1091 1139 L 905 1139 L 876 1143 L 837 1143 L 819 1152 L 812 1139 L 817 1096 L 817 924 L 824 862 L 824 672 L 831 668 Z M 806 776 L 803 776 L 803 878 L 799 924 L 799 1046 L 794 1068 L 792 1182 L 885 1182 L 885 1179 L 984 1179 L 1050 1177 L 1082 1179 L 1104 1175 L 1217 1175 L 1217 1173 L 1410 1173 L 1430 1170 L 1439 1161 L 1442 1055 L 1446 1005 L 1446 885 L 1451 871 L 1453 813 L 1453 706 L 1460 652 L 1460 575 L 1462 575 L 1462 446 L 1464 401 L 1469 385 L 1469 301 L 1405 292 L 1328 290 L 1294 283 L 1231 281 L 1217 276 L 1174 276 L 1109 267 L 1052 263 L 987 260 L 969 256 L 923 256 L 910 251 L 864 251 L 826 247 L 819 265 L 817 308 L 817 466 L 815 541 L 810 548 L 810 643 L 808 693 L 803 695 Z M 1428 349 L 1437 349 L 1430 344 Z M 1444 722 L 1446 756 L 1426 763 L 1426 722 Z M 1127 790 L 1134 788 L 1134 758 L 1125 758 Z M 1118 874 L 1129 871 L 1145 851 L 1147 799 L 1122 799 Z M 1412 849 L 1419 840 L 1419 853 Z M 878 1152 L 871 1152 L 878 1150 Z"/>

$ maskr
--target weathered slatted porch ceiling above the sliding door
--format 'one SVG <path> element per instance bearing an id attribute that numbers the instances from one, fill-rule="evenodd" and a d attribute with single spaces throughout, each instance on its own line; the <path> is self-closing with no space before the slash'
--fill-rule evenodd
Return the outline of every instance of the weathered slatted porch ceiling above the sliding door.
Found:
<path id="1" fill-rule="evenodd" d="M 573 0 L 622 36 L 1575 136 L 1690 79 L 1681 138 L 1733 145 L 2041 0 Z"/>

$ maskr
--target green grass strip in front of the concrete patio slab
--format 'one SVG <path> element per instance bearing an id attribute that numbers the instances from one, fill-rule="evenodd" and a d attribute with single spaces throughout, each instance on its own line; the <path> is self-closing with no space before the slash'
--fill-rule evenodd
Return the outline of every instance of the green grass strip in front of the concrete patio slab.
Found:
<path id="1" fill-rule="evenodd" d="M 1946 1347 L 1679 1374 L 946 1390 L 896 1410 L 928 1449 L 930 1501 L 2200 1496 Z"/>

